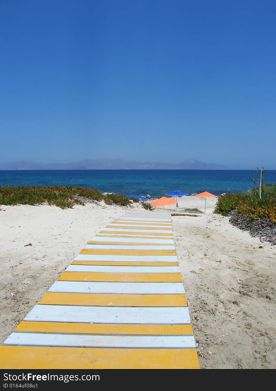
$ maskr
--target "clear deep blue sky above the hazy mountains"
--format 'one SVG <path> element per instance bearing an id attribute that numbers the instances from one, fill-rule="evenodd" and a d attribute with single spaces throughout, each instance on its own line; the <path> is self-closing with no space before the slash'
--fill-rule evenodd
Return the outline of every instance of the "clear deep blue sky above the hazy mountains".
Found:
<path id="1" fill-rule="evenodd" d="M 0 162 L 276 169 L 276 2 L 0 0 Z"/>

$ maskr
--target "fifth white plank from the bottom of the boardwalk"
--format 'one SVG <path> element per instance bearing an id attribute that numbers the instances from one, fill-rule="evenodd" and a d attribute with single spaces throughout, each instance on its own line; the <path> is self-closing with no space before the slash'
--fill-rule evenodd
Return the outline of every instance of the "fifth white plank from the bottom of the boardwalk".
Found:
<path id="1" fill-rule="evenodd" d="M 75 261 L 178 262 L 176 255 L 90 255 L 79 254 Z"/>

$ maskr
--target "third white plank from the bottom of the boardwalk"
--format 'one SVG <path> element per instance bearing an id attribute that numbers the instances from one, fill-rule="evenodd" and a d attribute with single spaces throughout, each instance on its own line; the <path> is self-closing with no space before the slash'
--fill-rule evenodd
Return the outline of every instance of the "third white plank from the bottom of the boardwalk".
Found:
<path id="1" fill-rule="evenodd" d="M 182 282 L 56 281 L 49 292 L 115 294 L 184 294 Z"/>

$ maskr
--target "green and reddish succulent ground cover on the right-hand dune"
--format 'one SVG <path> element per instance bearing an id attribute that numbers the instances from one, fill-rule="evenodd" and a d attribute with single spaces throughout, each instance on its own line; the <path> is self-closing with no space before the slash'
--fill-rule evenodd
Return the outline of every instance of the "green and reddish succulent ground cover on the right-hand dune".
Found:
<path id="1" fill-rule="evenodd" d="M 244 194 L 225 194 L 219 197 L 214 213 L 228 216 L 237 210 L 253 220 L 269 218 L 276 223 L 276 185 L 264 185 L 262 199 L 258 189 Z"/>

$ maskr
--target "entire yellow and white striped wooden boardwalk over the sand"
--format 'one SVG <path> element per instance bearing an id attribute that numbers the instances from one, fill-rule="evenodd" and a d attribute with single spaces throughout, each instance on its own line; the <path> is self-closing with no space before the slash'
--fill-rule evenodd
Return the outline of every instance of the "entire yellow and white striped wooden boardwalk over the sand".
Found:
<path id="1" fill-rule="evenodd" d="M 0 368 L 199 368 L 168 213 L 87 245 L 0 348 Z"/>

